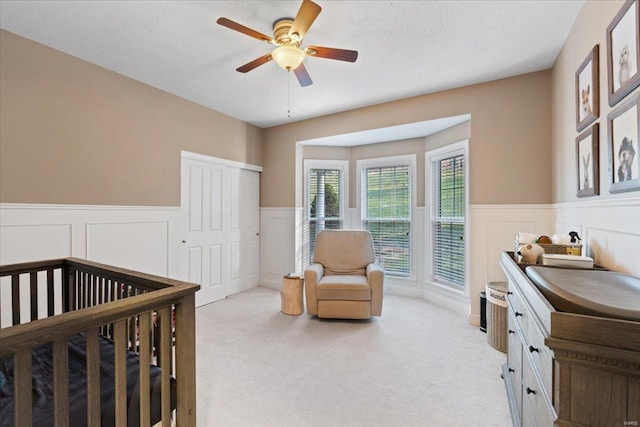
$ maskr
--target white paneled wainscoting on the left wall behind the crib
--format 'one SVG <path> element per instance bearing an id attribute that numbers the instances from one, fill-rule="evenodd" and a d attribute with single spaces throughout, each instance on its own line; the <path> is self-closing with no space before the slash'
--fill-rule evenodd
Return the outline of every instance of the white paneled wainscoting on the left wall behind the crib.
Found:
<path id="1" fill-rule="evenodd" d="M 177 278 L 179 208 L 0 205 L 0 264 L 77 257 Z"/>

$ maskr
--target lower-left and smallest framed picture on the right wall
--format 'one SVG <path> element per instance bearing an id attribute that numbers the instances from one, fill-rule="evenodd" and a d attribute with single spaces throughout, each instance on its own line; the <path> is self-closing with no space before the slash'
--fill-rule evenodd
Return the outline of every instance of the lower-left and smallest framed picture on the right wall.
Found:
<path id="1" fill-rule="evenodd" d="M 600 125 L 598 123 L 576 138 L 576 176 L 578 197 L 600 194 Z"/>

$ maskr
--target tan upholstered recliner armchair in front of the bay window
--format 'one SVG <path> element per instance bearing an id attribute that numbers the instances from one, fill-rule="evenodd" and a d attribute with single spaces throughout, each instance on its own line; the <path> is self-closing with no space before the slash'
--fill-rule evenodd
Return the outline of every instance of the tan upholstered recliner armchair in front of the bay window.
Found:
<path id="1" fill-rule="evenodd" d="M 313 264 L 304 271 L 307 313 L 322 318 L 369 319 L 382 314 L 384 270 L 365 230 L 323 230 Z"/>

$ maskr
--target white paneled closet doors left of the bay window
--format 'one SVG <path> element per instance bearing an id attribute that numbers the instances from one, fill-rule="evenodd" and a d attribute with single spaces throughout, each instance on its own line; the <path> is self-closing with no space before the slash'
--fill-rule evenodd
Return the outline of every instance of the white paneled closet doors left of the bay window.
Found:
<path id="1" fill-rule="evenodd" d="M 260 174 L 182 159 L 182 277 L 196 305 L 258 285 Z"/>

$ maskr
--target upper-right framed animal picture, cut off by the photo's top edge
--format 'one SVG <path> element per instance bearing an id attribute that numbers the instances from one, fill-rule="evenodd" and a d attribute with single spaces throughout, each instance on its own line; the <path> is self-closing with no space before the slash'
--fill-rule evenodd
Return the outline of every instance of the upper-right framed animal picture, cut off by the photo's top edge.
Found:
<path id="1" fill-rule="evenodd" d="M 640 85 L 640 6 L 627 0 L 607 27 L 609 106 Z"/>

